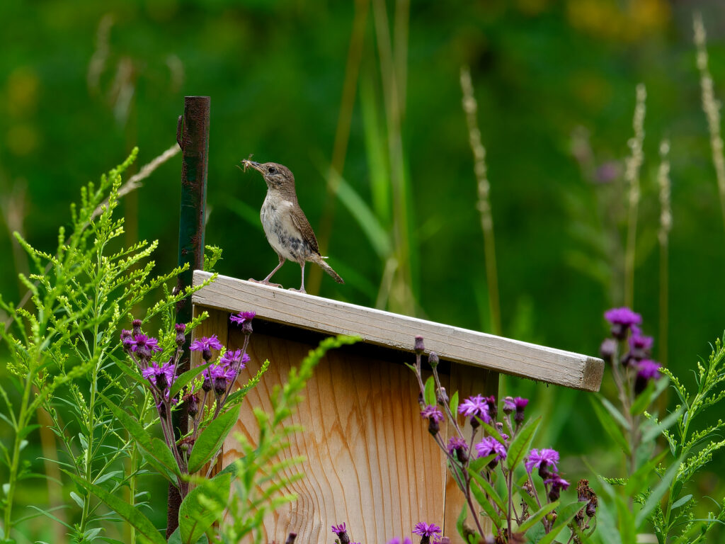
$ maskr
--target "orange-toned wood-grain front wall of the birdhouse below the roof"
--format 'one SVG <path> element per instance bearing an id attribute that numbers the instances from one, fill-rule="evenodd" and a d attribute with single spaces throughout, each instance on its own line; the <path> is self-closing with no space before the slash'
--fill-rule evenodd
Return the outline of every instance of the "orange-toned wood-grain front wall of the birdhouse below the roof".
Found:
<path id="1" fill-rule="evenodd" d="M 232 330 L 230 349 L 240 347 Z M 252 407 L 270 411 L 270 395 L 286 381 L 311 345 L 253 334 L 244 383 L 263 360 L 271 361 L 262 382 L 247 395 L 235 427 L 254 443 Z M 265 542 L 329 544 L 332 524 L 345 522 L 353 542 L 385 543 L 410 536 L 417 522 L 444 524 L 445 461 L 418 414 L 418 387 L 409 369 L 386 360 L 330 352 L 305 391 L 291 423 L 305 427 L 292 437 L 283 458 L 304 455 L 306 477 L 285 492 L 299 495 L 265 520 Z M 233 437 L 224 445 L 223 465 L 238 458 Z M 454 529 L 455 531 L 455 520 Z M 454 536 L 454 535 L 452 535 Z"/>

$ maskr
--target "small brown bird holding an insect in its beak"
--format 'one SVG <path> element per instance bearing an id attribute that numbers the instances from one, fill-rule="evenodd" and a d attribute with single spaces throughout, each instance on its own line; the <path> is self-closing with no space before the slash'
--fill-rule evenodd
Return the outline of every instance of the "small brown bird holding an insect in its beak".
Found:
<path id="1" fill-rule="evenodd" d="M 267 184 L 267 197 L 262 204 L 260 219 L 265 229 L 267 241 L 277 252 L 279 264 L 269 276 L 261 281 L 249 279 L 258 284 L 273 285 L 282 287 L 280 284 L 270 283 L 270 279 L 276 271 L 282 268 L 285 260 L 294 260 L 302 268 L 302 284 L 299 289 L 292 291 L 305 292 L 305 263 L 309 260 L 332 276 L 339 284 L 345 282 L 336 271 L 325 262 L 327 257 L 320 255 L 315 233 L 312 232 L 310 221 L 307 221 L 305 212 L 299 207 L 297 193 L 294 190 L 294 176 L 289 168 L 278 165 L 276 162 L 253 162 L 245 159 L 241 161 L 244 171 L 251 167 L 257 170 L 265 178 Z"/>

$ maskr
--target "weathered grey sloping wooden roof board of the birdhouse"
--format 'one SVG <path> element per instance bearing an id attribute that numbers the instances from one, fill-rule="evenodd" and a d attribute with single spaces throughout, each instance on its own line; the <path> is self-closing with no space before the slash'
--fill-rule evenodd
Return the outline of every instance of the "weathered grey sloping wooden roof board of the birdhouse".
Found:
<path id="1" fill-rule="evenodd" d="M 194 284 L 209 276 L 194 271 Z M 268 321 L 326 334 L 353 334 L 365 342 L 407 352 L 413 350 L 413 337 L 421 334 L 426 347 L 444 360 L 573 389 L 598 391 L 602 382 L 604 362 L 598 358 L 228 276 L 218 276 L 192 299 L 196 305 L 228 312 L 254 310 Z"/>

